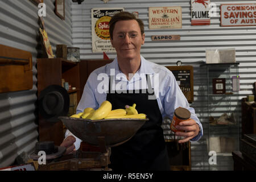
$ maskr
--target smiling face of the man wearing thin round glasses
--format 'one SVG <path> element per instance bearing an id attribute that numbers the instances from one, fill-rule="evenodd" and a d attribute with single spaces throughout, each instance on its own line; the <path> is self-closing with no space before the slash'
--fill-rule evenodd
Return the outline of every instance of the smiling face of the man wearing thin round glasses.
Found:
<path id="1" fill-rule="evenodd" d="M 113 39 L 110 40 L 119 59 L 134 59 L 141 55 L 145 35 L 141 35 L 141 28 L 136 20 L 121 20 L 115 23 Z"/>

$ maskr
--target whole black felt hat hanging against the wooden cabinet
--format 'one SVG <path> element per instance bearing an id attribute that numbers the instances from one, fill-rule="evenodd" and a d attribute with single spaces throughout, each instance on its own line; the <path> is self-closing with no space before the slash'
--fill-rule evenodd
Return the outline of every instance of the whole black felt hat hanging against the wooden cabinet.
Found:
<path id="1" fill-rule="evenodd" d="M 58 122 L 69 110 L 69 94 L 60 85 L 49 85 L 39 96 L 39 113 L 49 122 Z"/>

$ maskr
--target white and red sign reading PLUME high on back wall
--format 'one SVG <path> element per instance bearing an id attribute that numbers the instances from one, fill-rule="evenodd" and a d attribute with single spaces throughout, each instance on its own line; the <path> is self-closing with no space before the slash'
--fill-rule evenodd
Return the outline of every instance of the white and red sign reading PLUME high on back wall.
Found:
<path id="1" fill-rule="evenodd" d="M 191 25 L 209 25 L 210 0 L 191 0 Z"/>

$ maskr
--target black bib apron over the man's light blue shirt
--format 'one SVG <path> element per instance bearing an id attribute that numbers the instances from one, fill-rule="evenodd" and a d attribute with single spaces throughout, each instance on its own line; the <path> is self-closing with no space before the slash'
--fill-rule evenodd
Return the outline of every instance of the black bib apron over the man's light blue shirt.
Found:
<path id="1" fill-rule="evenodd" d="M 148 96 L 154 96 L 150 77 L 148 77 L 147 81 L 148 89 L 133 90 L 133 93 L 129 93 L 129 90 L 127 90 L 127 93 L 117 93 L 111 90 L 113 78 L 113 76 L 110 77 L 109 93 L 106 97 L 106 100 L 111 102 L 112 109 L 125 109 L 125 105 L 132 106 L 135 103 L 138 113 L 146 114 L 149 120 L 144 123 L 133 138 L 111 148 L 111 164 L 109 167 L 113 171 L 126 169 L 170 170 L 166 143 L 161 127 L 162 114 L 156 99 L 148 100 Z"/>

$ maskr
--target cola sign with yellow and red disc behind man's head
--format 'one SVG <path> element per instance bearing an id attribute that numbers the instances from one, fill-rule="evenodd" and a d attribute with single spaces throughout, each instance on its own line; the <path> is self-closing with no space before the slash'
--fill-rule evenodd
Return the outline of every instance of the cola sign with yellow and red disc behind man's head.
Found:
<path id="1" fill-rule="evenodd" d="M 109 21 L 115 13 L 123 8 L 92 9 L 92 51 L 115 52 L 110 42 Z"/>

